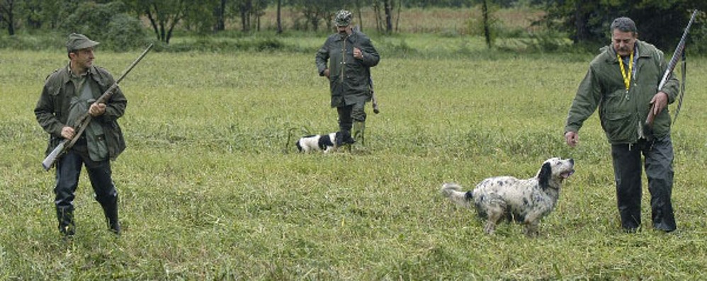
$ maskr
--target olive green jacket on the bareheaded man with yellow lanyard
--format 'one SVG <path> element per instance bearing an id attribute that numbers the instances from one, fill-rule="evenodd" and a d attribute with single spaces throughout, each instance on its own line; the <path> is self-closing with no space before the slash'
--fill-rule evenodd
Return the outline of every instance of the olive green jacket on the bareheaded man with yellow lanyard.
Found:
<path id="1" fill-rule="evenodd" d="M 655 46 L 640 40 L 636 41 L 636 45 L 638 58 L 628 93 L 613 47 L 603 47 L 601 54 L 592 60 L 572 101 L 565 132 L 579 132 L 584 120 L 599 107 L 601 127 L 611 144 L 638 142 L 639 131 L 648 139 L 670 134 L 670 114 L 667 107 L 655 116 L 652 131 L 644 128 L 650 111 L 650 100 L 658 92 L 658 84 L 667 69 L 667 62 L 663 52 Z M 628 65 L 625 67 L 628 69 Z M 675 101 L 678 86 L 679 81 L 671 73 L 662 88 L 662 91 L 667 93 L 669 104 Z"/>

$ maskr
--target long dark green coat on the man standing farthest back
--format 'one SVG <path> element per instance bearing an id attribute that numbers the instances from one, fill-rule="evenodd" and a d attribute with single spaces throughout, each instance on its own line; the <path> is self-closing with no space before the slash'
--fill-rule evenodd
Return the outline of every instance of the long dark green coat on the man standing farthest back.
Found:
<path id="1" fill-rule="evenodd" d="M 353 57 L 353 47 L 361 49 L 363 59 Z M 379 60 L 378 51 L 365 34 L 353 31 L 345 40 L 338 33 L 329 35 L 317 51 L 315 62 L 319 76 L 324 76 L 324 69 L 329 68 L 332 108 L 371 101 L 370 68 Z"/>

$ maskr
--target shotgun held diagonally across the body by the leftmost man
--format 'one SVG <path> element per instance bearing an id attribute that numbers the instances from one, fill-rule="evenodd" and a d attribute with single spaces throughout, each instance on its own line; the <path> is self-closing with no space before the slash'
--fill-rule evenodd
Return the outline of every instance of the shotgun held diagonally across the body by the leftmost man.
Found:
<path id="1" fill-rule="evenodd" d="M 108 99 L 111 98 L 111 96 L 113 96 L 113 92 L 115 92 L 115 90 L 118 89 L 118 84 L 120 83 L 120 81 L 123 81 L 123 78 L 125 78 L 125 76 L 127 76 L 128 73 L 130 73 L 132 68 L 135 67 L 137 65 L 137 63 L 139 63 L 140 60 L 142 60 L 142 58 L 145 57 L 145 55 L 147 55 L 147 52 L 149 52 L 150 49 L 152 49 L 152 44 L 147 46 L 147 49 L 145 49 L 145 51 L 143 51 L 142 54 L 140 54 L 140 57 L 137 57 L 137 59 L 135 59 L 135 62 L 132 62 L 132 64 L 130 64 L 130 67 L 128 67 L 128 69 L 125 69 L 125 71 L 123 71 L 123 74 L 120 75 L 120 78 L 118 78 L 118 80 L 116 80 L 115 83 L 113 83 L 113 85 L 111 85 L 111 87 L 108 88 L 108 90 L 103 92 L 101 97 L 99 97 L 98 100 L 96 100 L 94 102 L 94 104 L 106 103 L 108 101 Z M 74 134 L 74 137 L 72 139 L 62 140 L 62 142 L 60 142 L 60 144 L 57 145 L 57 147 L 55 147 L 54 150 L 52 150 L 52 152 L 49 155 L 47 155 L 47 158 L 45 158 L 44 161 L 42 161 L 42 166 L 44 167 L 44 171 L 49 171 L 49 169 L 52 168 L 52 166 L 54 166 L 54 164 L 57 162 L 57 159 L 59 159 L 59 157 L 62 156 L 62 154 L 64 154 L 66 151 L 69 151 L 69 149 L 71 149 L 74 146 L 74 144 L 77 142 L 77 140 L 79 140 L 79 137 L 81 137 L 81 134 L 83 134 L 84 130 L 86 130 L 86 127 L 89 126 L 90 122 L 91 122 L 91 114 L 89 114 L 88 112 L 84 113 L 84 115 L 81 115 L 81 117 L 79 117 L 78 122 L 77 122 L 77 127 L 74 127 L 74 131 L 77 132 L 76 134 Z"/>

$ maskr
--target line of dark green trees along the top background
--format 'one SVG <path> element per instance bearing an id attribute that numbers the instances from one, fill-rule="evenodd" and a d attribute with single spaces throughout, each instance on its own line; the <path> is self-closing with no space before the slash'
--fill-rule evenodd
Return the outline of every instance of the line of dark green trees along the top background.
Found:
<path id="1" fill-rule="evenodd" d="M 379 33 L 395 33 L 396 19 L 402 8 L 477 8 L 482 9 L 482 25 L 487 44 L 492 47 L 490 13 L 497 8 L 531 6 L 541 8 L 545 16 L 533 23 L 546 30 L 566 33 L 576 45 L 606 42 L 611 19 L 629 16 L 639 25 L 640 38 L 658 47 L 670 47 L 689 19 L 692 9 L 707 10 L 707 1 L 694 0 L 0 0 L 0 28 L 14 35 L 18 28 L 27 30 L 65 30 L 91 35 L 118 36 L 128 43 L 131 38 L 149 36 L 169 44 L 175 28 L 201 34 L 219 33 L 227 23 L 237 23 L 244 33 L 261 31 L 261 17 L 266 8 L 276 9 L 276 33 L 285 28 L 314 30 L 331 28 L 334 12 L 346 8 L 359 17 L 361 10 L 374 11 Z M 494 7 L 494 8 L 490 8 Z M 297 21 L 283 26 L 283 9 L 294 12 Z M 707 33 L 701 23 L 696 33 Z M 149 26 L 149 31 L 143 26 Z M 123 38 L 120 38 L 123 36 Z"/>

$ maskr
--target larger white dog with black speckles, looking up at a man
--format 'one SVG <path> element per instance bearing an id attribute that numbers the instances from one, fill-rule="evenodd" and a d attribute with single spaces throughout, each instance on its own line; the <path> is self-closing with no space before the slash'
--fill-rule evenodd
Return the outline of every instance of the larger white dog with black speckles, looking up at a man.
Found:
<path id="1" fill-rule="evenodd" d="M 555 208 L 562 181 L 572 173 L 575 173 L 573 159 L 550 158 L 533 178 L 487 178 L 467 192 L 460 191 L 461 186 L 456 183 L 445 183 L 440 191 L 462 207 L 471 207 L 473 203 L 477 214 L 487 219 L 484 227 L 487 234 L 493 234 L 498 222 L 507 218 L 525 224 L 526 235 L 536 236 L 540 219 Z"/>

